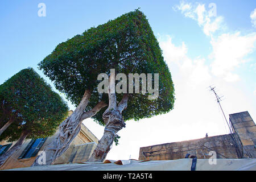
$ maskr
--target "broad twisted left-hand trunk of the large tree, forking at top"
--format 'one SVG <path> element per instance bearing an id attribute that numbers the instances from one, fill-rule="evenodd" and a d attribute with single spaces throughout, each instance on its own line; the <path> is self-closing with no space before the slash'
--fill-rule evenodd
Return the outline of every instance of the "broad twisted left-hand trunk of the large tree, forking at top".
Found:
<path id="1" fill-rule="evenodd" d="M 84 112 L 88 105 L 90 95 L 90 91 L 86 90 L 79 106 L 77 106 L 75 111 L 60 124 L 59 131 L 55 139 L 53 139 L 53 142 L 44 148 L 44 152 L 46 152 L 46 164 L 44 165 L 54 164 L 56 159 L 68 149 L 69 145 L 81 129 L 82 120 L 92 117 L 102 107 L 106 106 L 106 104 L 101 101 L 90 111 Z M 36 157 L 32 166 L 40 166 L 38 163 L 40 159 L 39 157 L 40 156 Z"/>

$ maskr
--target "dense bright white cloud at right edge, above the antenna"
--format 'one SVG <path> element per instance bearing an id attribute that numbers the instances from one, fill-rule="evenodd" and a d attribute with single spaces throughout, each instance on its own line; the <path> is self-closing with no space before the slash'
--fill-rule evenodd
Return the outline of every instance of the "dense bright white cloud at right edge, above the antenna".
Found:
<path id="1" fill-rule="evenodd" d="M 210 58 L 212 73 L 223 77 L 226 81 L 237 81 L 239 76 L 233 74 L 235 68 L 245 63 L 245 56 L 255 51 L 256 34 L 241 36 L 240 32 L 235 34 L 222 34 L 212 39 L 213 52 Z"/>

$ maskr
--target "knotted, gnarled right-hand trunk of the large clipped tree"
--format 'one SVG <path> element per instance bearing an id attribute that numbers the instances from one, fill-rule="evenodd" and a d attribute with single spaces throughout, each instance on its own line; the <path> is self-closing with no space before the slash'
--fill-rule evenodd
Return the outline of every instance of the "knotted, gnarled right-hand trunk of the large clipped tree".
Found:
<path id="1" fill-rule="evenodd" d="M 103 137 L 100 139 L 97 147 L 93 151 L 87 162 L 103 162 L 108 154 L 110 147 L 113 144 L 115 134 L 123 127 L 125 122 L 123 121 L 122 111 L 127 107 L 128 94 L 124 94 L 122 101 L 117 106 L 117 98 L 115 93 L 110 92 L 113 89 L 114 81 L 113 75 L 110 74 L 109 84 L 109 106 L 103 113 L 102 118 L 105 122 L 105 130 Z"/>

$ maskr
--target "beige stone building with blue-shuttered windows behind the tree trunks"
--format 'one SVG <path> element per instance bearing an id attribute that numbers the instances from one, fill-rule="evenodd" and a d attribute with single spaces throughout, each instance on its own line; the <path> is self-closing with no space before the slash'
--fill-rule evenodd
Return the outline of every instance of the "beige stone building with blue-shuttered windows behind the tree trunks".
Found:
<path id="1" fill-rule="evenodd" d="M 72 113 L 72 110 L 69 111 L 69 115 Z M 6 162 L 0 167 L 0 169 L 31 166 L 34 163 L 38 152 L 43 150 L 47 144 L 51 143 L 55 138 L 55 135 L 47 138 L 25 140 L 20 149 L 11 155 L 10 158 L 7 159 Z M 56 164 L 85 162 L 92 154 L 94 148 L 96 148 L 97 143 L 97 137 L 95 137 L 93 133 L 86 126 L 84 126 L 84 124 L 81 124 L 79 134 L 77 134 L 76 138 L 73 139 L 68 150 L 65 151 L 59 159 L 57 159 Z M 15 142 L 0 142 L 0 155 L 3 152 L 8 152 L 9 148 L 14 144 Z"/>

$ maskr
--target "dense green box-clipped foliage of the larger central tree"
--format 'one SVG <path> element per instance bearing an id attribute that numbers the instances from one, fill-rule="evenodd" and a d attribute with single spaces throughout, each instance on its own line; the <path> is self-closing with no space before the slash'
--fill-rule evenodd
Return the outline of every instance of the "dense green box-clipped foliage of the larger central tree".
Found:
<path id="1" fill-rule="evenodd" d="M 100 73 L 159 73 L 159 97 L 148 100 L 147 94 L 130 94 L 123 119 L 139 120 L 153 115 L 167 113 L 174 105 L 174 85 L 171 73 L 165 63 L 159 43 L 146 19 L 139 10 L 119 16 L 108 23 L 86 30 L 66 42 L 60 43 L 54 51 L 39 63 L 55 84 L 73 104 L 79 105 L 85 90 L 92 93 L 90 110 L 100 100 L 108 103 L 107 94 L 99 94 L 97 85 Z M 117 100 L 122 94 L 117 94 Z M 104 125 L 100 110 L 94 120 Z"/>

